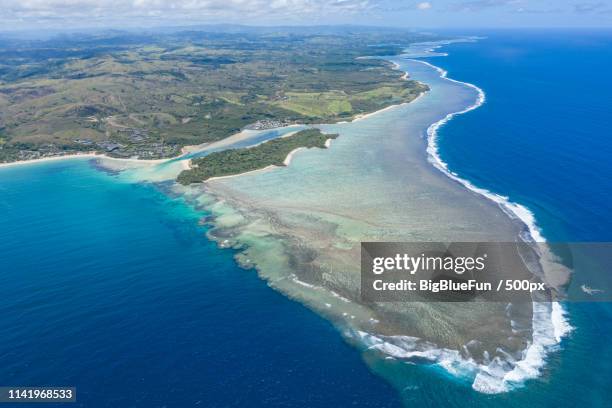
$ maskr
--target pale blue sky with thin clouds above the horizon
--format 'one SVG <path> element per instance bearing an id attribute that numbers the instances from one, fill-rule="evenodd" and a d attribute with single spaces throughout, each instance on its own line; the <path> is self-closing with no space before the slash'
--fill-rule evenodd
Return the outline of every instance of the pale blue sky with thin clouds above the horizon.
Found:
<path id="1" fill-rule="evenodd" d="M 612 0 L 0 0 L 0 31 L 211 23 L 612 28 Z"/>

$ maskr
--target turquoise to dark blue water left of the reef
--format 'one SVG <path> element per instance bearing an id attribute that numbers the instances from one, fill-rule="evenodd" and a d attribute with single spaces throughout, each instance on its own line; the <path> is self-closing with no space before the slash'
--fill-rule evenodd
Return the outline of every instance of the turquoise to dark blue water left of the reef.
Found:
<path id="1" fill-rule="evenodd" d="M 2 385 L 73 385 L 84 407 L 400 406 L 181 199 L 72 160 L 2 169 L 0 209 Z"/>

